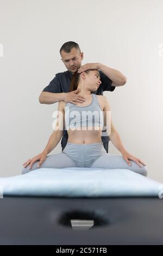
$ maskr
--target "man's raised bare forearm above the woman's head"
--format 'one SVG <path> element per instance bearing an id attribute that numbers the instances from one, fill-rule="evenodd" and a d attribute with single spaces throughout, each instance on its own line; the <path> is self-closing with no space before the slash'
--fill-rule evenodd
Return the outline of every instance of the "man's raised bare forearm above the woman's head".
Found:
<path id="1" fill-rule="evenodd" d="M 123 86 L 127 82 L 126 76 L 124 76 L 120 71 L 111 69 L 101 63 L 98 64 L 98 67 L 116 86 Z"/>

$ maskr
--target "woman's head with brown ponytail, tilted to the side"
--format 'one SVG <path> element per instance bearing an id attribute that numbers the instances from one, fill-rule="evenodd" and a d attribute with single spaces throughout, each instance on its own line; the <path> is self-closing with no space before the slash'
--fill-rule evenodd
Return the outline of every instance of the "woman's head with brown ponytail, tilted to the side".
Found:
<path id="1" fill-rule="evenodd" d="M 99 70 L 98 69 L 89 69 L 82 73 L 74 73 L 71 83 L 70 83 L 70 92 L 73 90 L 79 89 L 79 92 L 84 90 L 84 92 L 96 92 L 98 87 L 101 84 Z"/>

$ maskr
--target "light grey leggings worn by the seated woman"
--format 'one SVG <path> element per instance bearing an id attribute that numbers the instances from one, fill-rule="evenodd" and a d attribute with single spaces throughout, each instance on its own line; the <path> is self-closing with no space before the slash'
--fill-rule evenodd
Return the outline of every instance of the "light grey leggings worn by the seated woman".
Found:
<path id="1" fill-rule="evenodd" d="M 74 144 L 67 142 L 62 153 L 49 155 L 46 160 L 37 167 L 36 161 L 32 168 L 28 166 L 22 169 L 22 174 L 39 168 L 66 168 L 66 167 L 87 167 L 106 169 L 129 169 L 133 172 L 147 176 L 146 166 L 139 167 L 134 161 L 129 166 L 120 155 L 107 154 L 103 142 L 91 144 Z"/>

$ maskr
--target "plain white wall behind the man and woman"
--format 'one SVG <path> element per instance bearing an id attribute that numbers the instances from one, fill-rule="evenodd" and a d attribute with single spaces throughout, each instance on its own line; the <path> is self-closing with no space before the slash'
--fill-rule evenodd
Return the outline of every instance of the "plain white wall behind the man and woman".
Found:
<path id="1" fill-rule="evenodd" d="M 45 148 L 58 103 L 41 105 L 38 97 L 66 70 L 59 49 L 71 40 L 84 52 L 83 64 L 127 76 L 125 86 L 104 93 L 112 119 L 124 147 L 147 163 L 149 178 L 163 181 L 162 8 L 162 0 L 0 0 L 0 176 L 20 174 Z M 60 152 L 59 143 L 51 154 Z"/>

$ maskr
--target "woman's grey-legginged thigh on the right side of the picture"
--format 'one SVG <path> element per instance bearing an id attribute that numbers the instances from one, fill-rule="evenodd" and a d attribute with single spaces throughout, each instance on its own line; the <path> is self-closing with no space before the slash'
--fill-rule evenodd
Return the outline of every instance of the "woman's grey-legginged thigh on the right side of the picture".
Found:
<path id="1" fill-rule="evenodd" d="M 108 168 L 108 169 L 129 169 L 133 172 L 147 176 L 147 167 L 139 167 L 134 161 L 129 160 L 131 166 L 120 155 L 115 154 L 105 154 L 100 156 L 95 162 L 90 166 L 90 168 Z"/>

